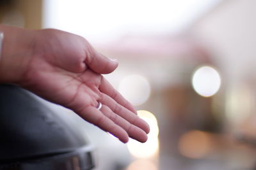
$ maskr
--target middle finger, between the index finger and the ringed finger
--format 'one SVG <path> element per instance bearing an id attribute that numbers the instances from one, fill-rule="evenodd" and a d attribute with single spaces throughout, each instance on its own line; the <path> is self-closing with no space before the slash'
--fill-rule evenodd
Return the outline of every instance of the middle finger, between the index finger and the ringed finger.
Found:
<path id="1" fill-rule="evenodd" d="M 145 122 L 143 119 L 141 119 L 140 117 L 132 113 L 130 110 L 127 110 L 127 108 L 124 108 L 124 106 L 116 103 L 114 99 L 107 96 L 106 94 L 102 94 L 100 102 L 108 106 L 114 113 L 124 118 L 131 124 L 136 125 L 137 127 L 140 127 L 140 129 L 145 131 L 147 134 L 150 131 L 150 128 L 147 122 Z"/>

